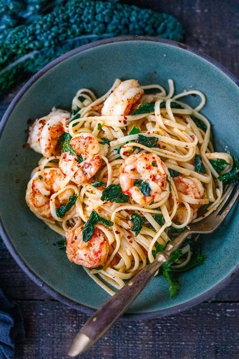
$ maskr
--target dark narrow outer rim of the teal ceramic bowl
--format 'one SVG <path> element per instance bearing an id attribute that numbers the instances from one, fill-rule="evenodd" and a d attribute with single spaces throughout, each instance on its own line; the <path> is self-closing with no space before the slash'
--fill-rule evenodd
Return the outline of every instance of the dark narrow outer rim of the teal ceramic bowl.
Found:
<path id="1" fill-rule="evenodd" d="M 66 59 L 79 54 L 81 52 L 84 52 L 85 50 L 88 50 L 89 48 L 97 47 L 100 45 L 108 44 L 108 43 L 114 43 L 114 42 L 125 42 L 125 41 L 151 41 L 151 42 L 159 42 L 175 47 L 180 47 L 182 50 L 186 50 L 187 52 L 193 53 L 194 55 L 203 58 L 207 62 L 209 62 L 211 65 L 218 68 L 220 71 L 222 71 L 227 77 L 232 80 L 235 85 L 239 85 L 238 79 L 229 71 L 227 70 L 223 65 L 221 65 L 216 60 L 212 59 L 210 56 L 205 55 L 201 53 L 199 50 L 196 50 L 192 48 L 191 46 L 188 46 L 182 42 L 178 41 L 172 41 L 168 39 L 162 39 L 154 36 L 139 36 L 139 35 L 132 35 L 132 36 L 117 36 L 117 37 L 111 37 L 107 39 L 101 39 L 97 40 L 88 44 L 85 44 L 83 46 L 77 47 L 70 52 L 56 58 L 55 60 L 51 61 L 49 64 L 44 66 L 40 71 L 38 71 L 36 74 L 34 74 L 30 80 L 26 82 L 26 84 L 20 89 L 20 91 L 16 94 L 14 99 L 12 100 L 11 104 L 9 105 L 8 109 L 6 110 L 3 119 L 0 123 L 0 138 L 2 137 L 4 128 L 6 126 L 6 123 L 13 112 L 15 106 L 18 104 L 20 99 L 23 97 L 23 95 L 26 93 L 26 91 L 47 71 L 49 71 L 51 68 L 56 66 L 57 64 L 65 61 Z M 73 309 L 76 309 L 84 314 L 91 315 L 95 309 L 87 306 L 85 304 L 81 304 L 76 302 L 73 299 L 70 299 L 66 297 L 65 295 L 59 293 L 56 289 L 53 289 L 51 286 L 46 284 L 38 275 L 36 275 L 31 268 L 25 263 L 25 261 L 21 258 L 21 255 L 14 247 L 14 244 L 12 243 L 10 237 L 7 234 L 7 231 L 3 225 L 2 220 L 0 219 L 0 235 L 7 246 L 10 254 L 14 258 L 14 260 L 17 262 L 17 264 L 20 266 L 20 268 L 27 274 L 27 276 L 38 286 L 40 286 L 44 291 L 52 296 L 53 298 L 65 303 L 66 305 L 72 307 Z M 195 298 L 189 299 L 188 301 L 185 301 L 183 303 L 173 305 L 169 308 L 154 311 L 154 312 L 144 312 L 144 313 L 127 313 L 124 314 L 121 320 L 147 320 L 147 319 L 154 319 L 159 317 L 165 317 L 169 315 L 173 315 L 176 313 L 180 313 L 182 311 L 190 309 L 192 306 L 197 305 L 201 303 L 203 300 L 208 299 L 215 293 L 217 293 L 219 290 L 221 290 L 223 287 L 225 287 L 227 284 L 230 283 L 232 279 L 236 277 L 236 275 L 239 273 L 239 263 L 238 265 L 222 280 L 220 280 L 217 284 L 215 284 L 212 288 L 207 290 L 206 292 L 198 295 Z"/>

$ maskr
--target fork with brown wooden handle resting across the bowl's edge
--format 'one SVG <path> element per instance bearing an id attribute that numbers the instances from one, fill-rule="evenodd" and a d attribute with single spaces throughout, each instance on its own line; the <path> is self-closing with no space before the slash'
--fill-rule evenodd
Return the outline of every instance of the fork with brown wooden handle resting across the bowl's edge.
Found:
<path id="1" fill-rule="evenodd" d="M 113 325 L 113 323 L 120 316 L 124 314 L 129 305 L 141 293 L 160 266 L 169 261 L 170 254 L 174 250 L 178 249 L 189 235 L 194 233 L 212 233 L 218 228 L 232 208 L 239 194 L 238 186 L 233 197 L 226 206 L 234 187 L 235 186 L 229 186 L 226 189 L 223 194 L 223 200 L 211 215 L 200 222 L 191 224 L 190 229 L 186 229 L 183 233 L 168 243 L 163 252 L 158 252 L 156 254 L 154 262 L 142 269 L 128 282 L 128 284 L 110 297 L 101 306 L 101 308 L 91 316 L 91 318 L 81 328 L 80 332 L 76 335 L 72 345 L 70 346 L 68 352 L 70 356 L 76 356 L 87 350 Z"/>

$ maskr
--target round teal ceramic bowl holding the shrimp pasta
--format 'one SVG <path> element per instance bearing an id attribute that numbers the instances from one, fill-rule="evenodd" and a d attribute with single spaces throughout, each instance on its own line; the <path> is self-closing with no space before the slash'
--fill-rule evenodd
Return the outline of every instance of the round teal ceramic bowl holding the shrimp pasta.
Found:
<path id="1" fill-rule="evenodd" d="M 108 294 L 71 264 L 53 245 L 59 236 L 44 225 L 25 203 L 26 183 L 40 155 L 25 148 L 28 119 L 47 114 L 52 106 L 70 109 L 81 87 L 102 95 L 114 79 L 135 78 L 141 84 L 175 81 L 176 92 L 202 90 L 207 97 L 203 114 L 213 124 L 218 150 L 238 152 L 238 87 L 220 64 L 186 45 L 151 37 L 100 40 L 56 59 L 22 88 L 1 123 L 0 183 L 1 235 L 9 251 L 29 277 L 64 303 L 92 313 Z M 187 98 L 196 105 L 197 98 Z M 238 208 L 234 206 L 219 230 L 201 236 L 207 260 L 203 266 L 180 275 L 181 290 L 169 299 L 168 284 L 154 277 L 131 305 L 125 318 L 147 319 L 174 314 L 205 300 L 238 272 Z"/>

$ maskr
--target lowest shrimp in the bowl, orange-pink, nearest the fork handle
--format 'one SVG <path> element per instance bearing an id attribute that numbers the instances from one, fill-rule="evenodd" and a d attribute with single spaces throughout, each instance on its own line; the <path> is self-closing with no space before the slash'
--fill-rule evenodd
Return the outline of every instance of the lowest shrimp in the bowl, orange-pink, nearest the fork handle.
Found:
<path id="1" fill-rule="evenodd" d="M 69 261 L 87 268 L 104 266 L 109 252 L 107 239 L 101 230 L 95 228 L 91 239 L 84 242 L 82 238 L 83 227 L 80 226 L 75 230 L 71 228 L 66 232 L 66 253 Z"/>

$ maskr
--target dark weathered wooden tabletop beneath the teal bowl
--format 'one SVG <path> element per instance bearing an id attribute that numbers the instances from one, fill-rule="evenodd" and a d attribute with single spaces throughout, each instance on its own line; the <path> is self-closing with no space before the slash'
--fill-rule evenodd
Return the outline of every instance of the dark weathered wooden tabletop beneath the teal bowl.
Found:
<path id="1" fill-rule="evenodd" d="M 128 1 L 175 15 L 185 26 L 184 42 L 239 74 L 239 3 L 233 0 Z M 147 3 L 147 5 L 146 5 Z M 204 74 L 202 74 L 204 76 Z M 18 88 L 0 102 L 4 113 Z M 0 242 L 0 283 L 23 312 L 26 339 L 18 359 L 67 358 L 66 348 L 87 320 L 38 288 Z M 216 296 L 175 316 L 117 322 L 83 359 L 214 359 L 239 357 L 239 277 Z"/>

